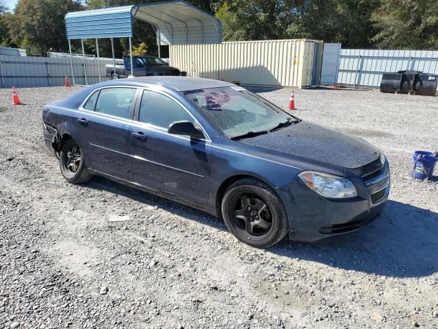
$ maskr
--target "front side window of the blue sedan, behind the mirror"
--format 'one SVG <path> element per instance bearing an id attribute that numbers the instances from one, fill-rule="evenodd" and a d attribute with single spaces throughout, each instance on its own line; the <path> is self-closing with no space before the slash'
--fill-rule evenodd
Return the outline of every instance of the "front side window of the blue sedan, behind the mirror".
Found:
<path id="1" fill-rule="evenodd" d="M 194 119 L 190 114 L 176 101 L 149 90 L 144 90 L 143 92 L 139 121 L 150 123 L 166 130 L 170 123 L 175 121 L 190 121 L 194 123 Z"/>

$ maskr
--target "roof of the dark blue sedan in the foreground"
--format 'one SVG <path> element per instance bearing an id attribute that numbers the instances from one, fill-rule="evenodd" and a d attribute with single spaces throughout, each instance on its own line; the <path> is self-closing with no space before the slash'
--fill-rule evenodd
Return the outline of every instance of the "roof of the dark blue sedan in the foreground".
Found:
<path id="1" fill-rule="evenodd" d="M 203 79 L 201 77 L 172 77 L 172 76 L 160 76 L 160 77 L 133 77 L 123 80 L 110 80 L 103 82 L 96 87 L 111 86 L 117 84 L 120 86 L 124 84 L 126 86 L 151 86 L 159 85 L 167 88 L 171 88 L 177 91 L 188 91 L 205 88 L 219 88 L 235 86 L 229 82 L 220 80 Z"/>

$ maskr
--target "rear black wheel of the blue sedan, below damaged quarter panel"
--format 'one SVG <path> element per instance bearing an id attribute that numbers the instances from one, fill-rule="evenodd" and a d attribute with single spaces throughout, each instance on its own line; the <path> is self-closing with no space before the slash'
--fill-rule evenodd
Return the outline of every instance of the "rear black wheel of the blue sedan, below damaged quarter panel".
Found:
<path id="1" fill-rule="evenodd" d="M 81 148 L 75 140 L 71 138 L 62 144 L 60 151 L 60 169 L 62 176 L 70 183 L 85 183 L 92 178 L 92 175 L 88 172 Z"/>

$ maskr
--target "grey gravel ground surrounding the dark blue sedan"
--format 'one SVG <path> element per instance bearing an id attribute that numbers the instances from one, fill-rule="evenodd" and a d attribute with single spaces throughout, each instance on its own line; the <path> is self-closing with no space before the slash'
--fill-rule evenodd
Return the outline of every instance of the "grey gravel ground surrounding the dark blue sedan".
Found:
<path id="1" fill-rule="evenodd" d="M 296 115 L 359 136 L 391 163 L 383 215 L 320 243 L 267 250 L 222 220 L 102 178 L 67 184 L 42 143 L 44 103 L 79 88 L 0 89 L 0 326 L 438 328 L 438 98 L 296 90 Z M 257 90 L 285 107 L 289 90 Z"/>

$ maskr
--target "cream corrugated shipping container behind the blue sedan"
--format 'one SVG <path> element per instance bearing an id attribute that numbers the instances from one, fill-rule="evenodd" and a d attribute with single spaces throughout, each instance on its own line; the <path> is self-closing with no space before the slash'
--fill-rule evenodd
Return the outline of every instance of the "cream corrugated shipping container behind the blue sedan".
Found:
<path id="1" fill-rule="evenodd" d="M 191 77 L 219 80 L 223 75 L 246 86 L 311 86 L 313 53 L 320 43 L 300 39 L 170 45 L 170 65 Z"/>

